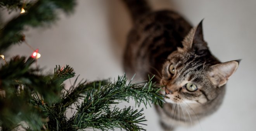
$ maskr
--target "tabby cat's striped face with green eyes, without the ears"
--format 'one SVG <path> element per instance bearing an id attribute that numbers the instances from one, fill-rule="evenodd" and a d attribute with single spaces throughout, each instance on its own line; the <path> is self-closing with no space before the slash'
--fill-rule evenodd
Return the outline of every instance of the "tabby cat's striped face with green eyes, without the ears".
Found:
<path id="1" fill-rule="evenodd" d="M 193 52 L 173 52 L 166 60 L 161 85 L 166 102 L 205 103 L 216 97 L 216 86 L 208 78 L 208 66 Z"/>

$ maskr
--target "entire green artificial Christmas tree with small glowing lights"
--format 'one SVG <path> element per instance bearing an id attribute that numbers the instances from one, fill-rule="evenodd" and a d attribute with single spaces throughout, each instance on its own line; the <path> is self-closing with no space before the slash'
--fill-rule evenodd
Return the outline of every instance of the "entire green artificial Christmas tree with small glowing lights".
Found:
<path id="1" fill-rule="evenodd" d="M 125 76 L 116 81 L 86 82 L 77 78 L 67 90 L 64 81 L 75 76 L 70 66 L 56 66 L 52 74 L 42 74 L 42 69 L 33 66 L 40 54 L 34 50 L 31 57 L 4 58 L 11 45 L 22 44 L 25 27 L 49 25 L 57 20 L 56 10 L 69 14 L 73 12 L 75 0 L 1 0 L 0 7 L 10 12 L 21 10 L 21 14 L 0 30 L 0 129 L 3 131 L 23 128 L 25 130 L 81 130 L 97 128 L 108 130 L 143 130 L 139 124 L 145 121 L 143 109 L 116 107 L 120 101 L 130 98 L 140 104 L 154 103 L 162 106 L 160 88 L 151 80 L 127 82 Z M 80 103 L 80 101 L 82 101 Z M 70 118 L 67 109 L 75 106 Z"/>

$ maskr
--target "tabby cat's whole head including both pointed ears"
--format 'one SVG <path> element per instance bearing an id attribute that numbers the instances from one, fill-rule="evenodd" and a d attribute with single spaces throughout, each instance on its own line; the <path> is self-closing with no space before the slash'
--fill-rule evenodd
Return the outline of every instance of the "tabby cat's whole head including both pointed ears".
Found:
<path id="1" fill-rule="evenodd" d="M 160 84 L 165 86 L 165 101 L 203 104 L 213 100 L 236 71 L 239 60 L 220 63 L 211 55 L 203 39 L 202 22 L 182 44 L 163 65 Z"/>

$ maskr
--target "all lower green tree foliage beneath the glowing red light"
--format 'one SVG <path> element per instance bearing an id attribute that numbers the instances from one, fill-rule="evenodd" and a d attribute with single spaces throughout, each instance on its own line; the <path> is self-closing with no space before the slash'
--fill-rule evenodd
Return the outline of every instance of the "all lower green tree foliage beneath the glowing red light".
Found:
<path id="1" fill-rule="evenodd" d="M 60 66 L 52 75 L 39 75 L 38 69 L 31 68 L 35 60 L 14 57 L 0 69 L 0 126 L 3 130 L 16 128 L 22 121 L 29 129 L 77 131 L 86 128 L 102 130 L 121 128 L 143 130 L 138 124 L 146 121 L 140 111 L 131 107 L 119 109 L 113 104 L 130 98 L 145 104 L 163 104 L 159 87 L 152 81 L 131 83 L 125 76 L 117 81 L 76 81 L 64 89 L 64 80 L 74 77 L 73 68 Z M 17 73 L 14 73 L 15 71 Z M 82 100 L 79 104 L 79 100 Z M 66 111 L 76 105 L 76 112 L 67 118 Z M 26 128 L 26 127 L 24 127 Z"/>

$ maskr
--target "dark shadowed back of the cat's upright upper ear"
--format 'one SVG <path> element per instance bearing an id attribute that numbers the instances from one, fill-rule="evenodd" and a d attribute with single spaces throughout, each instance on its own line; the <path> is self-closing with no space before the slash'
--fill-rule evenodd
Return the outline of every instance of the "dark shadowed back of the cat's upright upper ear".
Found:
<path id="1" fill-rule="evenodd" d="M 197 25 L 197 28 L 194 32 L 192 49 L 194 49 L 195 52 L 200 52 L 201 50 L 208 50 L 207 43 L 204 41 L 202 22 L 203 20 L 201 20 L 201 22 Z"/>

